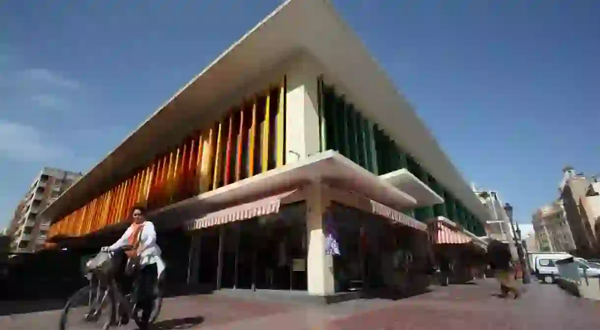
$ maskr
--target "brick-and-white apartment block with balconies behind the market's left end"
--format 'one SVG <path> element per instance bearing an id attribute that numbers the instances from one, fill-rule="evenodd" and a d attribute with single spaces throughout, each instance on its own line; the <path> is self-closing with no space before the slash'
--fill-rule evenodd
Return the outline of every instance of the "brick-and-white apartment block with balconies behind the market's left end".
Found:
<path id="1" fill-rule="evenodd" d="M 28 192 L 17 205 L 7 229 L 11 238 L 10 250 L 32 252 L 46 241 L 50 223 L 41 221 L 40 214 L 74 184 L 82 173 L 44 167 L 29 186 Z"/>

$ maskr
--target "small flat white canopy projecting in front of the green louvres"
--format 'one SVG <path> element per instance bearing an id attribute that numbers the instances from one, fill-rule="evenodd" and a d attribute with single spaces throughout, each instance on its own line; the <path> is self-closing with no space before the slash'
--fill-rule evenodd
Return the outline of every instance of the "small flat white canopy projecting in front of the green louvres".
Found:
<path id="1" fill-rule="evenodd" d="M 394 172 L 380 175 L 379 178 L 416 199 L 416 206 L 433 206 L 444 202 L 441 196 L 431 190 L 430 187 L 427 187 L 426 184 L 407 169 L 395 170 Z"/>

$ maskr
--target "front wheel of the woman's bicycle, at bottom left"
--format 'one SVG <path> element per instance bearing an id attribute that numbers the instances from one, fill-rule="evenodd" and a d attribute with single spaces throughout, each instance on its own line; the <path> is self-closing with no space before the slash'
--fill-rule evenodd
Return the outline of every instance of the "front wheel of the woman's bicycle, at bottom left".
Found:
<path id="1" fill-rule="evenodd" d="M 107 290 L 85 286 L 74 293 L 61 313 L 60 330 L 107 330 L 116 317 L 115 306 Z"/>

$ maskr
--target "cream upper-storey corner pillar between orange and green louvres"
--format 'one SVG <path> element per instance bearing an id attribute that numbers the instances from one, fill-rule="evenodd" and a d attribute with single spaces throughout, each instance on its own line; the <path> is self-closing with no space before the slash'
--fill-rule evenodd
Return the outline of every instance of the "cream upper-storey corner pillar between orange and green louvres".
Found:
<path id="1" fill-rule="evenodd" d="M 286 73 L 286 163 L 319 152 L 319 75 L 308 55 L 299 55 Z"/>

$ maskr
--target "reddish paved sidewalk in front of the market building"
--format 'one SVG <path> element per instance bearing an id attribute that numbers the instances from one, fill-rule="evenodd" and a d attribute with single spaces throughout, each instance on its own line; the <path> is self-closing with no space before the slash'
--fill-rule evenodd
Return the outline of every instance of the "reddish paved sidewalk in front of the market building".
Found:
<path id="1" fill-rule="evenodd" d="M 439 287 L 413 298 L 361 299 L 329 306 L 244 301 L 223 296 L 166 299 L 156 329 L 597 329 L 600 304 L 550 284 L 530 284 L 521 299 L 500 299 L 493 280 Z M 56 329 L 59 311 L 0 317 L 2 330 Z M 122 329 L 135 329 L 128 326 Z"/>

